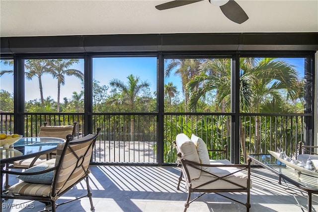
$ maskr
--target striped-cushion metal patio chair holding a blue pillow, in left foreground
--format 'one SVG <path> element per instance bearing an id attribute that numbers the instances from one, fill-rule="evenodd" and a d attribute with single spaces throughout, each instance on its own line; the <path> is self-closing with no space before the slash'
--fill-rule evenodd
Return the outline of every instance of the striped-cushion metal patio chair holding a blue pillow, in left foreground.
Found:
<path id="1" fill-rule="evenodd" d="M 57 146 L 55 162 L 52 162 L 54 159 L 47 160 L 24 172 L 4 170 L 4 173 L 18 175 L 22 181 L 10 186 L 5 193 L 1 194 L 1 198 L 40 201 L 47 204 L 46 208 L 52 207 L 52 212 L 55 212 L 60 205 L 88 197 L 90 209 L 93 211 L 88 174 L 92 150 L 99 132 L 100 128 L 97 128 L 95 135 L 89 134 L 74 141 L 72 141 L 72 135 L 68 135 L 67 141 Z M 86 195 L 61 204 L 56 203 L 61 196 L 84 179 L 87 186 Z"/>

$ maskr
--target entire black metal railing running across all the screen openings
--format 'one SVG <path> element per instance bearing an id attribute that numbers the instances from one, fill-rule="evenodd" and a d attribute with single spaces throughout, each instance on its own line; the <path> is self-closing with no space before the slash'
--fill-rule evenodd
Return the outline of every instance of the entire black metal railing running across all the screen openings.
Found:
<path id="1" fill-rule="evenodd" d="M 159 138 L 157 113 L 93 113 L 93 132 L 102 131 L 96 141 L 95 163 L 142 163 L 157 164 L 158 154 L 163 163 L 175 163 L 176 149 L 173 144 L 179 133 L 191 134 L 206 141 L 209 149 L 228 145 L 231 155 L 231 113 L 165 113 L 163 115 L 163 141 Z M 249 153 L 267 153 L 267 150 L 284 150 L 295 155 L 299 141 L 304 141 L 305 118 L 311 114 L 240 114 L 239 138 L 240 161 L 245 162 Z M 24 137 L 38 135 L 44 122 L 49 125 L 72 125 L 78 122 L 76 136 L 84 135 L 83 113 L 25 113 Z M 0 133 L 14 133 L 13 113 L 1 113 Z M 162 152 L 158 152 L 162 145 Z M 210 155 L 213 156 L 213 155 Z M 223 159 L 223 156 L 219 156 Z"/>

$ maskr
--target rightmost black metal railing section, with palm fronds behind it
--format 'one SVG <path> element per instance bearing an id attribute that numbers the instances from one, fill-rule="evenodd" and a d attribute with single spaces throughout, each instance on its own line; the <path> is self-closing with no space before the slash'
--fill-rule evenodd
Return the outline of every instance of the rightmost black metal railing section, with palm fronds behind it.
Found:
<path id="1" fill-rule="evenodd" d="M 299 141 L 304 141 L 306 114 L 244 114 L 240 116 L 240 139 L 246 153 L 268 153 L 283 149 L 295 155 Z"/>

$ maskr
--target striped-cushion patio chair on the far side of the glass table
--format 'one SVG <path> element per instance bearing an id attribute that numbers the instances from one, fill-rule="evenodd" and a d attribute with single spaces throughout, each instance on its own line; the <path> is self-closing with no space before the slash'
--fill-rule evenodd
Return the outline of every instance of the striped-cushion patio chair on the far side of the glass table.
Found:
<path id="1" fill-rule="evenodd" d="M 76 125 L 77 122 L 74 122 L 73 125 L 63 125 L 63 126 L 48 126 L 47 122 L 44 122 L 44 125 L 40 127 L 40 132 L 38 137 L 55 137 L 60 139 L 65 139 L 67 135 L 72 135 L 75 138 L 76 134 Z M 39 147 L 41 150 L 41 146 Z M 51 156 L 56 154 L 52 152 Z M 45 160 L 49 159 L 49 155 L 40 155 L 38 158 L 28 158 L 23 160 L 17 160 L 13 163 L 13 168 L 29 168 L 33 165 L 40 164 Z"/>

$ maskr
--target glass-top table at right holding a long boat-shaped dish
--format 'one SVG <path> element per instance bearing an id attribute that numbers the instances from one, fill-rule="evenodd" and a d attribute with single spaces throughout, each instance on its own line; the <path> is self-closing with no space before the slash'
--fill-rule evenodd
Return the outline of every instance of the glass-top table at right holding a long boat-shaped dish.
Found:
<path id="1" fill-rule="evenodd" d="M 302 173 L 277 160 L 271 154 L 249 154 L 251 164 L 260 165 L 308 193 L 308 212 L 312 211 L 312 194 L 318 194 L 318 176 Z"/>

